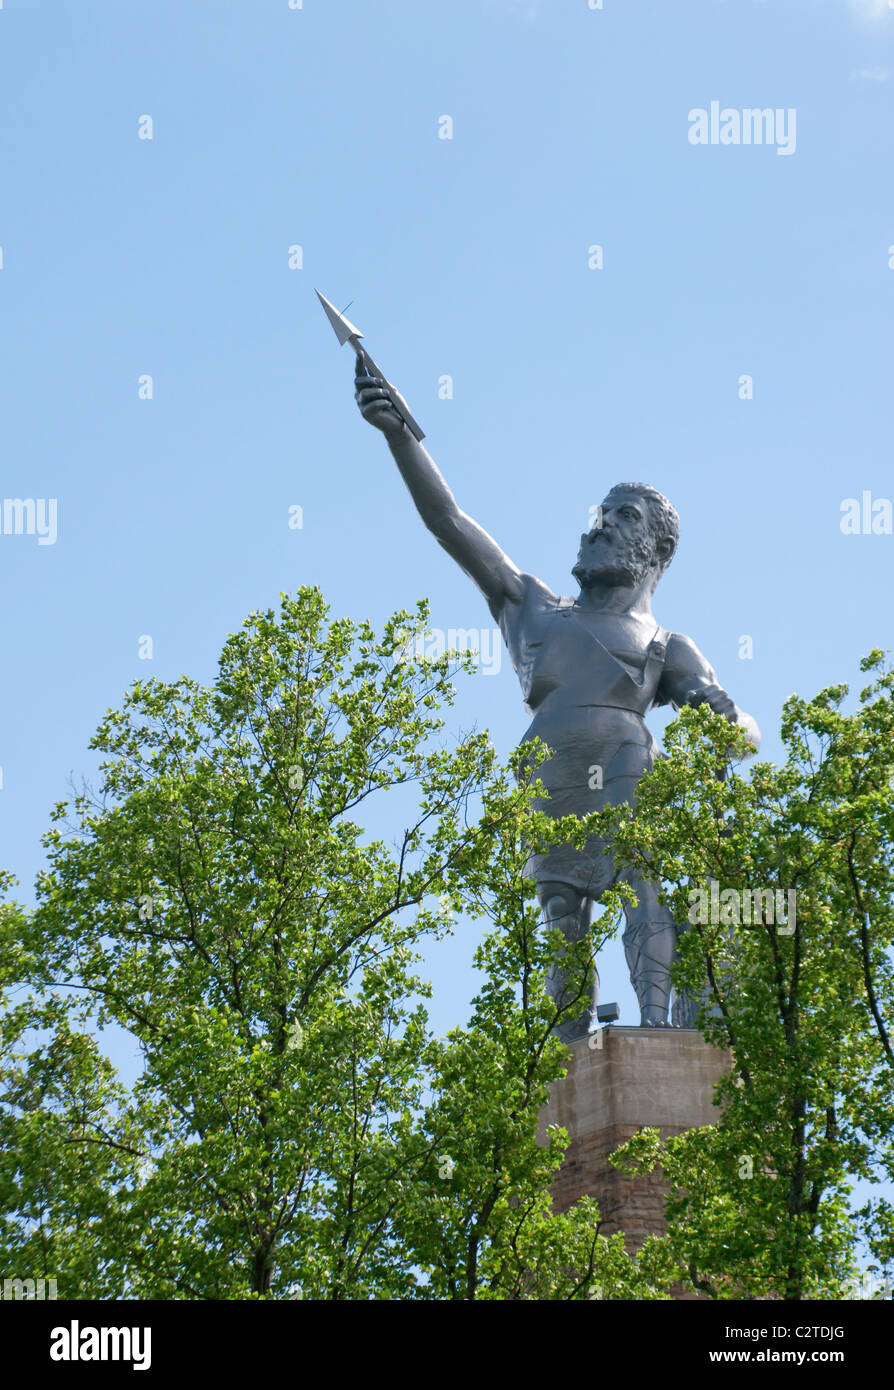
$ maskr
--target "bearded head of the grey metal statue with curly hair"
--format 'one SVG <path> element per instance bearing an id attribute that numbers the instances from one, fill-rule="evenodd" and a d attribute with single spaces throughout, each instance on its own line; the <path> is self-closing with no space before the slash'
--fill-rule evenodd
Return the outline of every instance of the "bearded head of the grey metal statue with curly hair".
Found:
<path id="1" fill-rule="evenodd" d="M 583 589 L 635 587 L 651 578 L 649 592 L 670 564 L 680 539 L 680 517 L 667 498 L 645 482 L 619 482 L 581 535 L 571 574 Z"/>

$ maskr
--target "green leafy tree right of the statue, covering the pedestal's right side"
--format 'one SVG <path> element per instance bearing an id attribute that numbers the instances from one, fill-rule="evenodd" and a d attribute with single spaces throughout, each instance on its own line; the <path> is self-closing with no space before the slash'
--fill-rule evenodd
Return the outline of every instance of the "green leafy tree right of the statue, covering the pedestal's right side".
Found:
<path id="1" fill-rule="evenodd" d="M 715 1298 L 845 1297 L 861 1232 L 891 1258 L 890 1202 L 848 1207 L 854 1179 L 894 1177 L 894 676 L 880 652 L 862 670 L 850 713 L 845 685 L 790 698 L 786 762 L 747 777 L 742 733 L 684 710 L 635 817 L 605 817 L 691 923 L 677 984 L 708 981 L 704 1031 L 733 1058 L 716 1126 L 642 1131 L 616 1156 L 660 1163 L 665 1243 Z"/>

